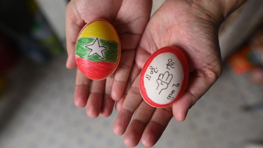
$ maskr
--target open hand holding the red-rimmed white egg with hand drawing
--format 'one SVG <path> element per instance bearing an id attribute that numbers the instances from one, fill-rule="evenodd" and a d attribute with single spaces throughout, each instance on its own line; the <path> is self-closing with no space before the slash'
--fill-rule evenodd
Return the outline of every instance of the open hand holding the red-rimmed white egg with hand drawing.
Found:
<path id="1" fill-rule="evenodd" d="M 127 146 L 134 147 L 141 139 L 145 147 L 152 147 L 171 118 L 184 121 L 188 110 L 221 75 L 218 30 L 228 13 L 221 12 L 220 4 L 167 0 L 150 19 L 136 51 L 135 70 L 131 73 L 134 82 L 126 98 L 116 104 L 119 114 L 113 130 L 117 135 L 126 131 Z M 154 51 L 166 46 L 179 47 L 184 52 L 192 75 L 180 99 L 166 108 L 154 108 L 141 97 L 139 72 Z M 161 81 L 159 84 L 164 84 Z"/>

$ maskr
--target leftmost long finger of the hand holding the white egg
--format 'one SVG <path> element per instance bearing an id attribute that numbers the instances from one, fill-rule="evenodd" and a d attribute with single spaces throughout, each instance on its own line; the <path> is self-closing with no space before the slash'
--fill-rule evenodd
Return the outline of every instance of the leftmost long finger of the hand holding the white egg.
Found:
<path id="1" fill-rule="evenodd" d="M 123 102 L 122 109 L 120 110 L 118 116 L 115 119 L 113 124 L 113 131 L 116 135 L 124 134 L 127 129 L 131 117 L 139 104 L 142 101 L 142 97 L 139 91 L 139 75 L 134 80 L 134 83 L 131 85 L 129 92 Z"/>

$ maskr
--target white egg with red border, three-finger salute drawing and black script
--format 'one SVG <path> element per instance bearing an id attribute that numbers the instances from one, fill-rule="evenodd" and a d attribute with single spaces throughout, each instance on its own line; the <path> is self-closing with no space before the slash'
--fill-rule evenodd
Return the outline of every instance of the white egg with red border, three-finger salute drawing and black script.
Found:
<path id="1" fill-rule="evenodd" d="M 153 107 L 169 106 L 184 93 L 188 77 L 184 53 L 177 47 L 163 47 L 147 59 L 141 70 L 141 95 Z"/>

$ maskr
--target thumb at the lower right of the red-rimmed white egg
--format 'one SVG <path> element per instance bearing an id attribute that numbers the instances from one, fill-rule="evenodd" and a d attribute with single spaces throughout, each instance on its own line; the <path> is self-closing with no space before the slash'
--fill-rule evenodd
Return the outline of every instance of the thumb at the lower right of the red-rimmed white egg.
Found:
<path id="1" fill-rule="evenodd" d="M 173 115 L 178 121 L 185 120 L 188 110 L 207 92 L 217 78 L 219 78 L 221 70 L 220 68 L 215 69 L 217 69 L 217 71 L 207 70 L 204 72 L 202 70 L 196 70 L 194 72 L 193 77 L 189 80 L 186 91 L 182 97 L 173 104 Z"/>

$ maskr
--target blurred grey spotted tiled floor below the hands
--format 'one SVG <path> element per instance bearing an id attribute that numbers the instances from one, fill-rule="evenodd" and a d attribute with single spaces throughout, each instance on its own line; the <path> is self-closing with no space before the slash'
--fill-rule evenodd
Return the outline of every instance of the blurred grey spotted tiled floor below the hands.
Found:
<path id="1" fill-rule="evenodd" d="M 38 67 L 20 60 L 5 78 L 9 85 L 0 99 L 0 147 L 126 147 L 123 136 L 112 130 L 116 111 L 108 118 L 91 119 L 85 109 L 75 107 L 75 70 L 66 69 L 65 61 L 62 55 Z M 262 140 L 263 109 L 242 110 L 251 93 L 256 97 L 251 99 L 262 100 L 261 86 L 224 66 L 222 76 L 190 109 L 186 121 L 172 119 L 154 147 L 239 148 L 247 140 Z"/>

